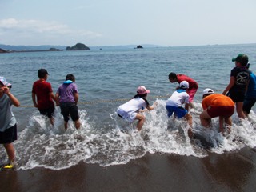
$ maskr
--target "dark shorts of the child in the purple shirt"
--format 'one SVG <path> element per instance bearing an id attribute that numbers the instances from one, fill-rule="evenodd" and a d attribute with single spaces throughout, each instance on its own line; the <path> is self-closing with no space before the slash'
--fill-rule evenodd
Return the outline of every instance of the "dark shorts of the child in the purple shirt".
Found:
<path id="1" fill-rule="evenodd" d="M 78 106 L 73 102 L 60 103 L 62 115 L 65 122 L 70 120 L 70 116 L 73 122 L 79 119 Z"/>

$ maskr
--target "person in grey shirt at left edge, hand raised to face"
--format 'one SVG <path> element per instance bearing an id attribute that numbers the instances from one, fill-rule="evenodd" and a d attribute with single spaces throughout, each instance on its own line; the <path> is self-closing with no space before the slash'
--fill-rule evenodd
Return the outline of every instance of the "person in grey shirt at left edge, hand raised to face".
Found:
<path id="1" fill-rule="evenodd" d="M 9 163 L 4 169 L 12 169 L 15 166 L 15 150 L 12 142 L 17 140 L 17 125 L 11 105 L 19 106 L 19 101 L 10 93 L 11 84 L 6 78 L 0 77 L 0 143 L 6 149 Z"/>

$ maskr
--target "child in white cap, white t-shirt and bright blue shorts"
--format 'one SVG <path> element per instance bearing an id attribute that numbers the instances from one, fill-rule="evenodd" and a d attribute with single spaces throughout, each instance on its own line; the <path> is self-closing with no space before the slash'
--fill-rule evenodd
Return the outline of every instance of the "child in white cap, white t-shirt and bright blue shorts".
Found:
<path id="1" fill-rule="evenodd" d="M 168 98 L 166 102 L 166 110 L 168 111 L 168 118 L 170 118 L 172 114 L 174 114 L 178 118 L 186 118 L 186 121 L 190 126 L 190 129 L 188 130 L 188 135 L 190 138 L 192 138 L 192 116 L 188 114 L 190 95 L 186 93 L 186 90 L 188 89 L 189 83 L 186 81 L 182 81 L 174 94 L 172 94 L 170 98 Z M 185 109 L 182 107 L 184 103 Z"/>

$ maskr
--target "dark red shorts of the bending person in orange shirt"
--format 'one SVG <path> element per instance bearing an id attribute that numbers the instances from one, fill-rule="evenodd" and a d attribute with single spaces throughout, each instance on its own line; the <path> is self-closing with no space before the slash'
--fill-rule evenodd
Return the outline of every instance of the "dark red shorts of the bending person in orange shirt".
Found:
<path id="1" fill-rule="evenodd" d="M 218 116 L 229 118 L 234 114 L 234 106 L 211 106 L 210 109 L 207 109 L 207 113 L 211 118 Z"/>

